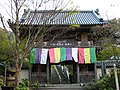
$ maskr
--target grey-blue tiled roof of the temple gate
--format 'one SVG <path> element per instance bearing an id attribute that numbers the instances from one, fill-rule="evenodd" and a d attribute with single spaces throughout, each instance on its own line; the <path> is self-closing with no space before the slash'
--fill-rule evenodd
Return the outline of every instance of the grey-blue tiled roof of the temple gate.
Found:
<path id="1" fill-rule="evenodd" d="M 21 24 L 29 25 L 98 25 L 106 24 L 95 11 L 25 11 Z"/>

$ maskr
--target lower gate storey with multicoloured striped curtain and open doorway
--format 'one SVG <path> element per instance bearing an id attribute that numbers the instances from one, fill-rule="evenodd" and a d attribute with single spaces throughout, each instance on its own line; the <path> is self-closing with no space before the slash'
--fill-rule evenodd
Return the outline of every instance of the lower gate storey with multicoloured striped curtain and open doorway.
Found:
<path id="1" fill-rule="evenodd" d="M 30 62 L 32 83 L 75 84 L 95 81 L 94 48 L 50 48 L 49 53 L 48 49 L 34 48 Z"/>

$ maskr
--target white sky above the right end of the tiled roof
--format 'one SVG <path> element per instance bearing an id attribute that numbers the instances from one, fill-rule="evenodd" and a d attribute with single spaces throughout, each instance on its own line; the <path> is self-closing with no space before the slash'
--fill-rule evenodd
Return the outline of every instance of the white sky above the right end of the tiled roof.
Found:
<path id="1" fill-rule="evenodd" d="M 99 9 L 103 19 L 120 18 L 120 0 L 74 0 L 81 10 Z"/>

